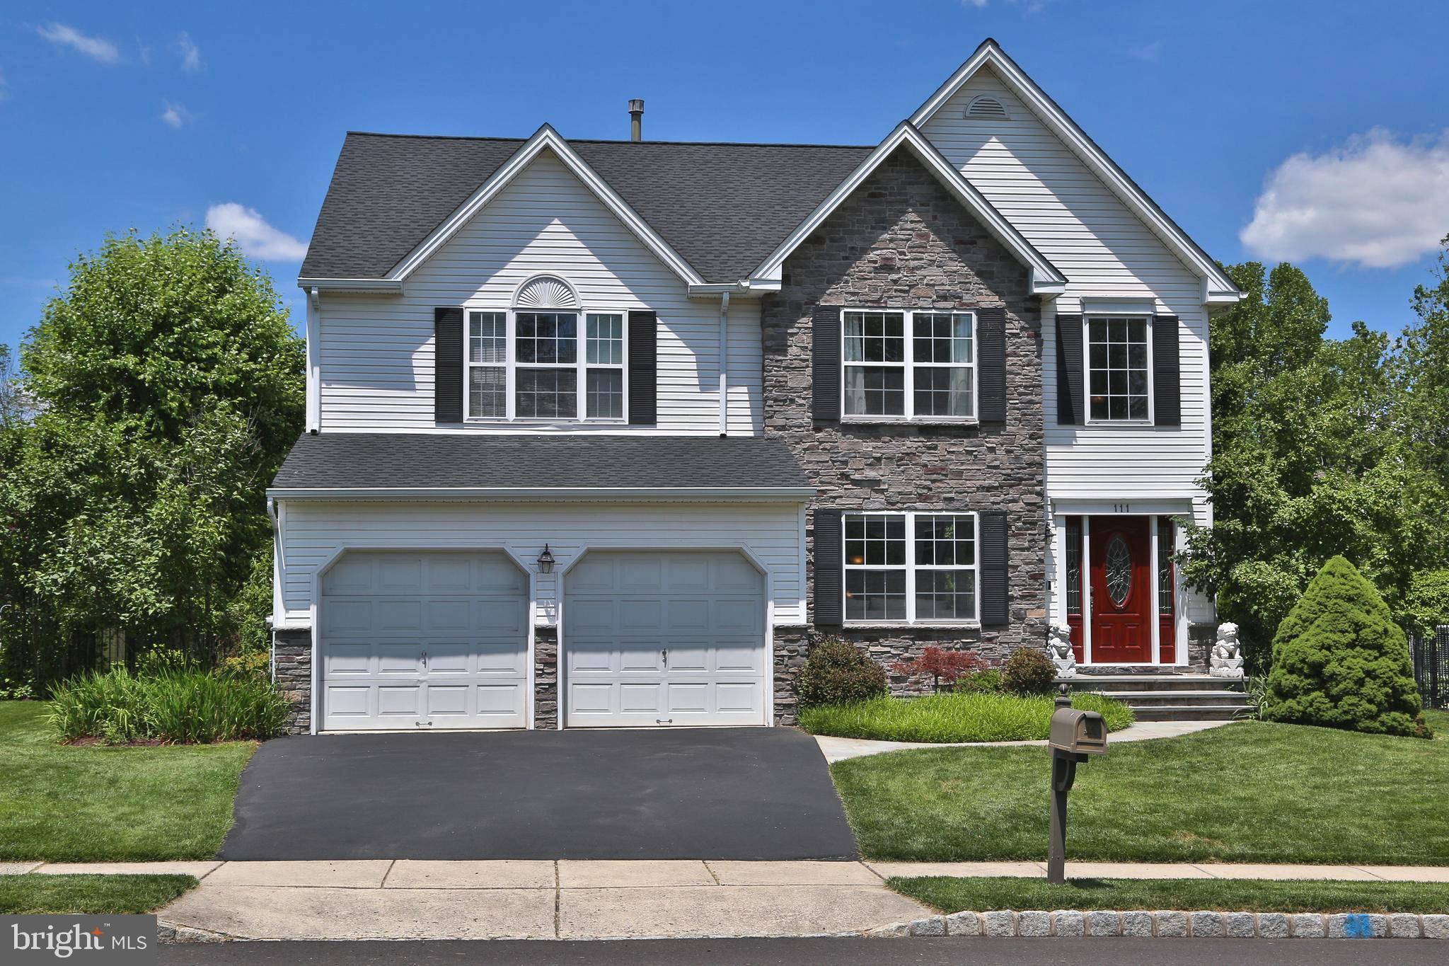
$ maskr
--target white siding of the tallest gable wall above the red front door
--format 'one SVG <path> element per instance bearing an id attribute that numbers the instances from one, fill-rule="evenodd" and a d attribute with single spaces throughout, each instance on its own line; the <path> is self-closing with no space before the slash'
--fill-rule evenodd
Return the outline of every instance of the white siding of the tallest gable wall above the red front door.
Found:
<path id="1" fill-rule="evenodd" d="M 982 94 L 1001 101 L 1007 119 L 966 119 Z M 923 133 L 1069 280 L 1042 311 L 1048 497 L 1191 498 L 1195 518 L 1208 523 L 1195 482 L 1210 450 L 1207 313 L 1197 275 L 990 68 Z M 1055 314 L 1082 314 L 1084 298 L 1149 300 L 1152 311 L 1179 319 L 1179 427 L 1058 426 Z"/>

